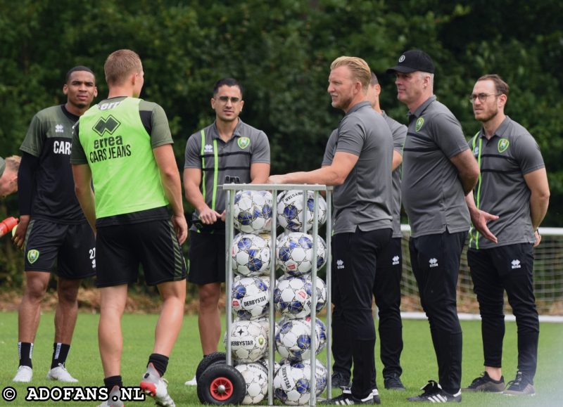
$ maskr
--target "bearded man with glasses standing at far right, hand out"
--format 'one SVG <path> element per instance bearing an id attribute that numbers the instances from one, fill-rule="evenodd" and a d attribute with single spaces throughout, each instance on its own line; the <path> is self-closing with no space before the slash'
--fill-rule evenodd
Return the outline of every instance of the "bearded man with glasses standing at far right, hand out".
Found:
<path id="1" fill-rule="evenodd" d="M 483 124 L 469 140 L 481 178 L 466 197 L 472 219 L 467 261 L 481 312 L 485 371 L 467 392 L 533 395 L 540 324 L 533 295 L 533 247 L 548 210 L 548 176 L 531 134 L 505 115 L 509 87 L 498 75 L 477 79 L 471 96 Z M 490 224 L 488 222 L 491 221 Z M 518 325 L 518 370 L 502 377 L 504 291 Z"/>

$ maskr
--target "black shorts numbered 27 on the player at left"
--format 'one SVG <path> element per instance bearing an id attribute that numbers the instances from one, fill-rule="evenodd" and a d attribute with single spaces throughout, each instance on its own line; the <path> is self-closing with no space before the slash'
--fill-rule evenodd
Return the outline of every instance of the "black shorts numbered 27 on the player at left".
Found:
<path id="1" fill-rule="evenodd" d="M 87 222 L 57 224 L 32 219 L 25 234 L 25 271 L 54 272 L 68 279 L 96 274 L 94 233 Z"/>

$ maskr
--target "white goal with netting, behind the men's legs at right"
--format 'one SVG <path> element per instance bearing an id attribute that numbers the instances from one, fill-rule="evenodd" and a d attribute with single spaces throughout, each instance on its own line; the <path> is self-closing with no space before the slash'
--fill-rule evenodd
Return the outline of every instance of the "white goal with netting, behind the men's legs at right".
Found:
<path id="1" fill-rule="evenodd" d="M 403 231 L 403 278 L 401 280 L 401 315 L 404 318 L 426 318 L 418 295 L 417 282 L 412 274 L 409 256 L 410 226 Z M 533 284 L 540 321 L 563 322 L 563 228 L 539 228 L 541 243 L 534 249 Z M 479 304 L 473 292 L 473 283 L 467 266 L 467 245 L 460 261 L 457 281 L 457 312 L 462 319 L 479 319 Z M 506 300 L 507 321 L 514 321 Z"/>

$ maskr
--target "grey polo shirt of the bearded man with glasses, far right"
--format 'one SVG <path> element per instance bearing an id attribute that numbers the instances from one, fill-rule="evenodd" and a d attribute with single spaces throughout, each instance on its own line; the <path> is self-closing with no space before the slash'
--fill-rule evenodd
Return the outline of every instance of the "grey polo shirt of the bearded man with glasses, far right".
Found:
<path id="1" fill-rule="evenodd" d="M 479 209 L 498 215 L 498 220 L 487 224 L 498 238 L 498 244 L 483 238 L 472 227 L 469 247 L 490 249 L 517 243 L 533 244 L 536 239 L 530 215 L 531 191 L 524 175 L 545 167 L 538 143 L 524 127 L 507 116 L 490 139 L 481 128 L 469 140 L 469 147 L 481 170 L 474 189 L 475 203 Z"/>

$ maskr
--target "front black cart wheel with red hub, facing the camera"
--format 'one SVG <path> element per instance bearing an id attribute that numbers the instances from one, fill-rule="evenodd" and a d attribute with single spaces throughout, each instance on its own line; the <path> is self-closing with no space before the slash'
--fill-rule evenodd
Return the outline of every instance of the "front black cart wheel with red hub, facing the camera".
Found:
<path id="1" fill-rule="evenodd" d="M 204 404 L 240 404 L 246 396 L 246 382 L 234 367 L 209 366 L 198 380 L 198 398 Z"/>

